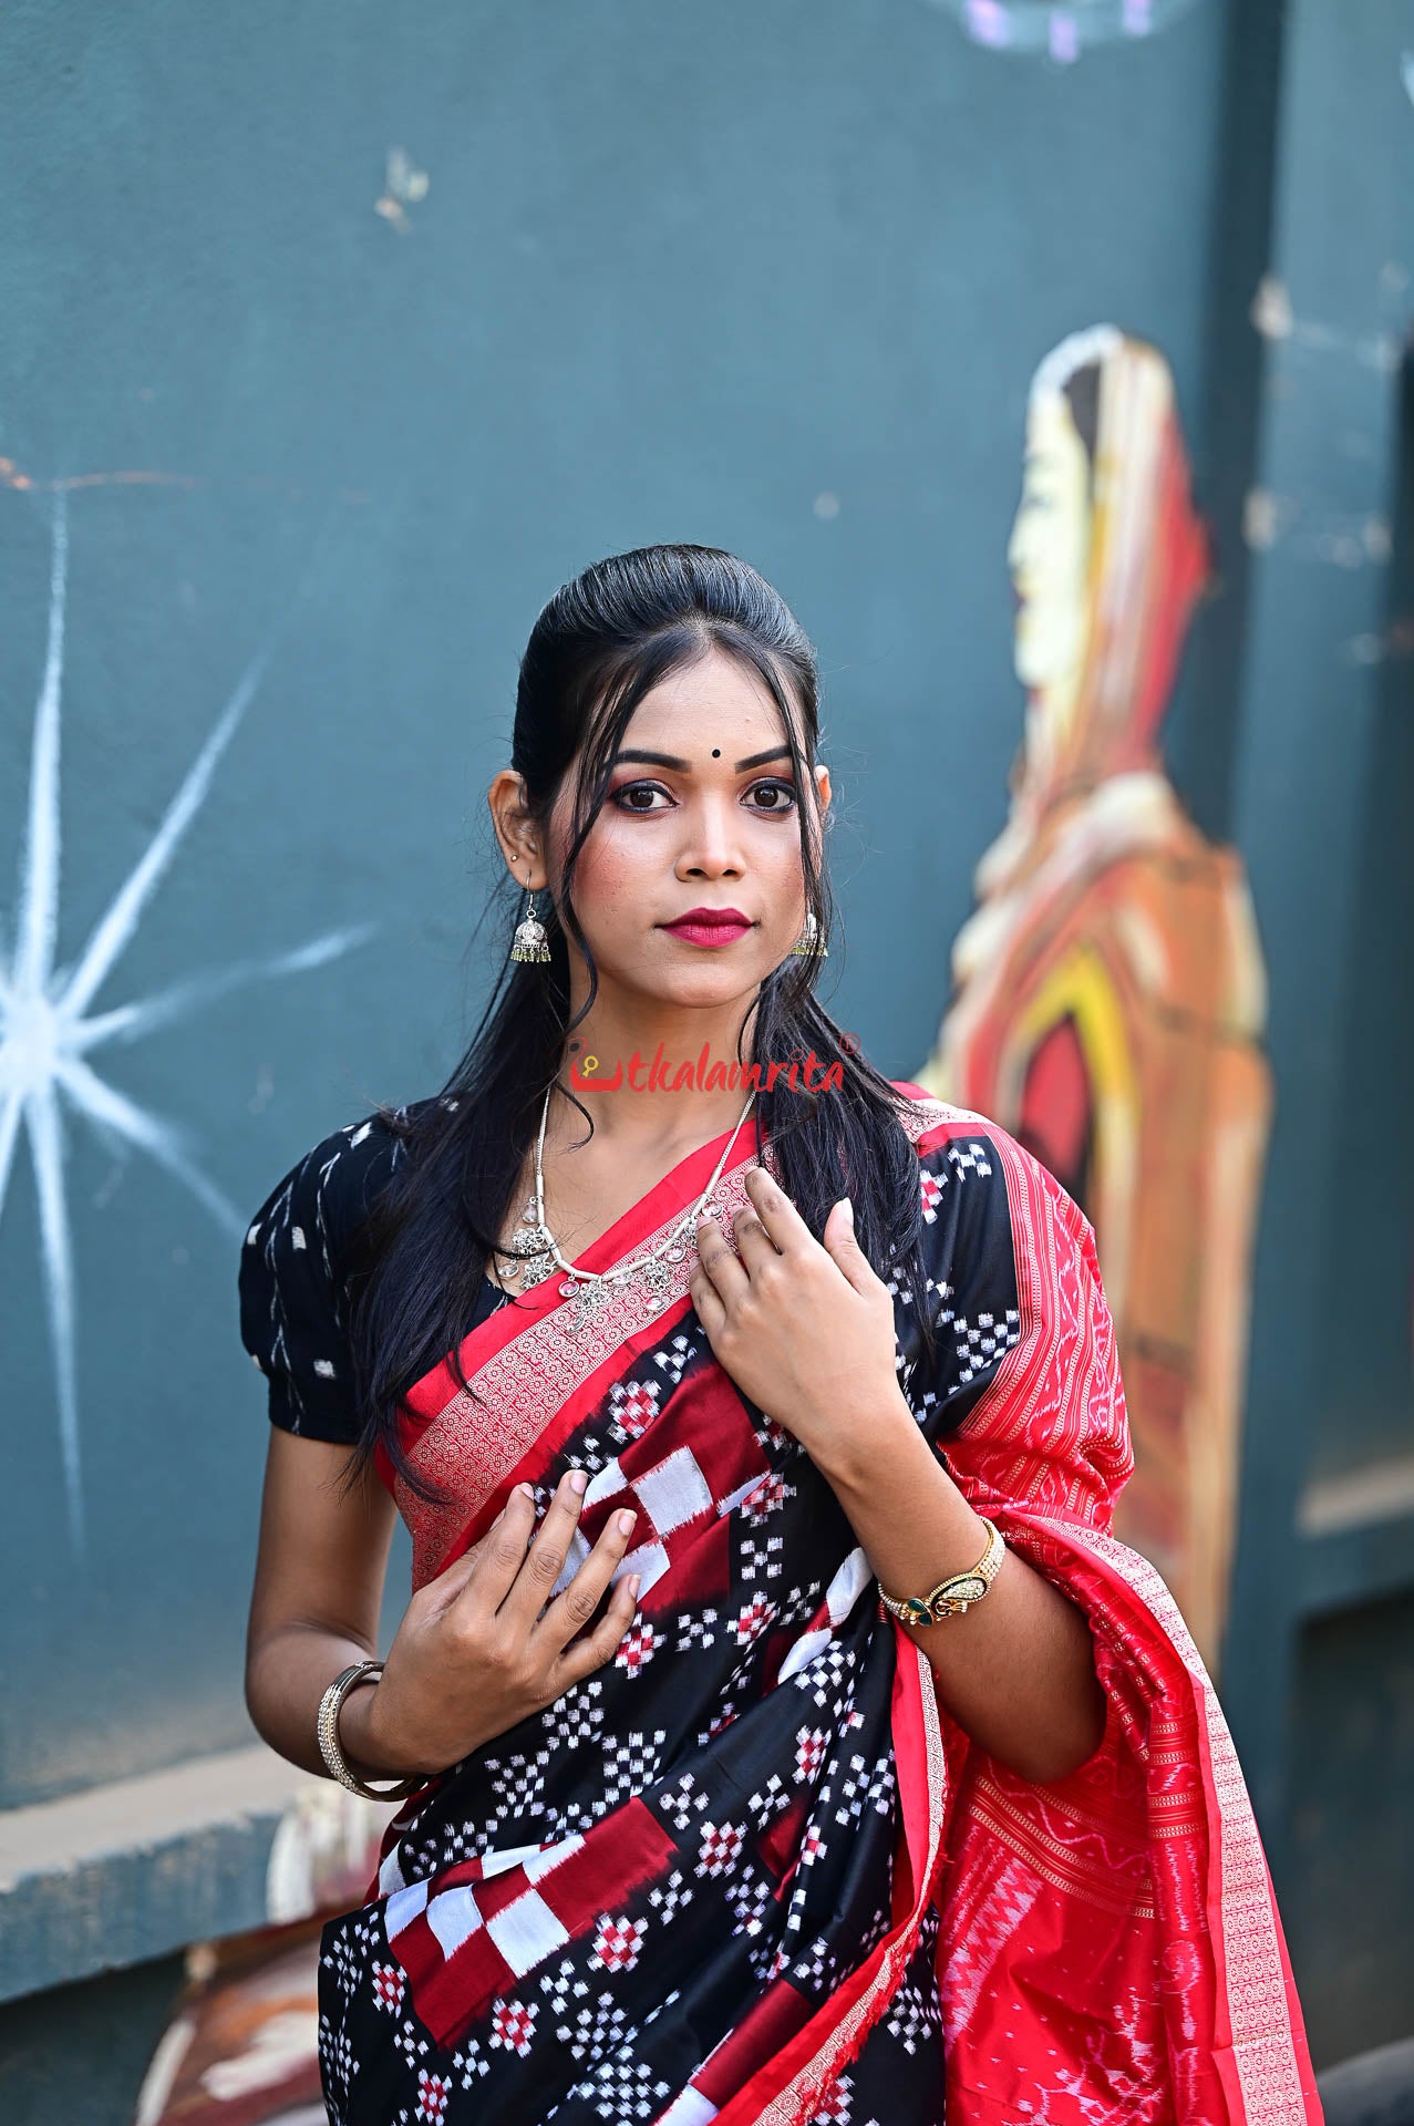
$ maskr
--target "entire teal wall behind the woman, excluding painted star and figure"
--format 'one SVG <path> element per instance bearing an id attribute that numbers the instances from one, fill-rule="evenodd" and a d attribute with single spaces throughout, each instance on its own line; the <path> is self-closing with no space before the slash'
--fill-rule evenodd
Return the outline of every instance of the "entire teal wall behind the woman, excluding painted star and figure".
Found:
<path id="1" fill-rule="evenodd" d="M 500 950 L 472 925 L 517 657 L 587 561 L 725 544 L 795 604 L 838 793 L 831 1008 L 889 1072 L 919 1065 L 1021 729 L 1004 549 L 1027 381 L 1065 332 L 1112 319 L 1167 353 L 1218 532 L 1223 593 L 1169 750 L 1199 819 L 1252 861 L 1274 974 L 1280 1110 L 1225 1692 L 1323 2056 L 1408 2028 L 1388 1958 L 1359 2028 L 1344 2020 L 1310 1811 L 1354 1879 L 1376 1841 L 1340 1794 L 1340 1752 L 1310 1737 L 1342 1705 L 1323 1614 L 1393 1603 L 1352 1633 L 1388 1650 L 1361 1656 L 1369 1690 L 1403 1673 L 1414 1543 L 1384 1522 L 1344 1548 L 1297 1539 L 1312 1473 L 1414 1450 L 1414 1154 L 1408 1129 L 1395 1157 L 1380 1137 L 1412 1016 L 1393 912 L 1408 534 L 1354 566 L 1320 546 L 1346 523 L 1405 523 L 1397 376 L 1363 353 L 1384 334 L 1397 366 L 1410 313 L 1386 272 L 1414 270 L 1405 49 L 1410 0 L 1197 0 L 1074 68 L 980 51 L 927 0 L 4 11 L 0 938 L 53 483 L 70 536 L 62 963 L 266 659 L 94 1010 L 370 933 L 89 1059 L 183 1127 L 230 1210 L 68 1110 L 83 1552 L 21 1140 L 0 1212 L 0 1805 L 249 1741 L 266 1420 L 236 1339 L 240 1220 L 319 1135 L 432 1091 L 457 1054 Z M 376 210 L 395 147 L 430 179 L 406 232 Z M 1255 332 L 1267 270 L 1325 340 Z M 1242 540 L 1250 485 L 1299 502 L 1272 551 Z M 1361 638 L 1382 644 L 1374 661 Z M 1371 984 L 1384 1016 L 1365 1020 Z M 1403 1869 L 1412 1750 L 1361 1758 L 1380 1852 Z M 193 1930 L 204 1896 L 193 1882 Z M 232 1892 L 225 1918 L 255 1913 Z M 145 1954 L 179 1939 L 164 1924 Z M 81 1975 L 30 1937 L 4 1958 L 9 1990 Z M 4 2047 L 0 2024 L 0 2069 Z"/>

